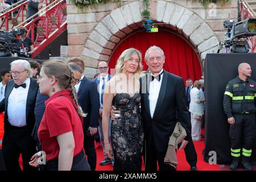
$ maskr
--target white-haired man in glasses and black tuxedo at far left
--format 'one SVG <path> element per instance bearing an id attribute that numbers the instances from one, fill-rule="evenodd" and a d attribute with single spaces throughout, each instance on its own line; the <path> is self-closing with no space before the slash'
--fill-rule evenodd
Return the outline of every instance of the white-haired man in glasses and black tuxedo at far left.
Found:
<path id="1" fill-rule="evenodd" d="M 23 171 L 36 170 L 28 162 L 36 152 L 31 133 L 35 124 L 38 84 L 32 78 L 32 69 L 26 60 L 13 61 L 10 73 L 13 80 L 7 82 L 5 98 L 0 102 L 0 111 L 5 111 L 3 158 L 7 170 L 20 171 L 18 160 L 21 153 Z"/>

